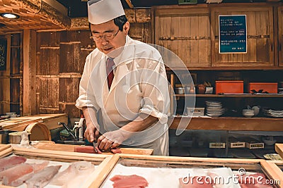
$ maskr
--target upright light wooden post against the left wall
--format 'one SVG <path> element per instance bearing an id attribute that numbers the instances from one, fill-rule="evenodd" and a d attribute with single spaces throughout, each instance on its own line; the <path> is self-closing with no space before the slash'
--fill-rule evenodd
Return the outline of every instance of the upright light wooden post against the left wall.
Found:
<path id="1" fill-rule="evenodd" d="M 23 115 L 36 113 L 36 32 L 23 30 Z"/>

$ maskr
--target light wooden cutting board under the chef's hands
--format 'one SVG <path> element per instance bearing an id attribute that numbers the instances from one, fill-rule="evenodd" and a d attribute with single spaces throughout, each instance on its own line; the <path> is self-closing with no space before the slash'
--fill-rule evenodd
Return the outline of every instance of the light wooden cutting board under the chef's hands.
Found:
<path id="1" fill-rule="evenodd" d="M 76 145 L 71 144 L 54 144 L 54 142 L 38 142 L 38 144 L 33 145 L 37 149 L 47 149 L 54 151 L 71 151 L 74 152 Z M 137 155 L 151 155 L 153 149 L 136 149 L 136 148 L 120 148 L 122 153 L 125 154 L 137 154 Z M 110 152 L 103 152 L 105 155 L 112 155 Z"/>

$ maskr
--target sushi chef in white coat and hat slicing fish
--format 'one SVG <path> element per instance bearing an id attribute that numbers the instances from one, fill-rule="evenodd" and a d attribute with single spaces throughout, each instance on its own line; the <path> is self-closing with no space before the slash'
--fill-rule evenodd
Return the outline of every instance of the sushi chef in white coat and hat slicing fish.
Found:
<path id="1" fill-rule="evenodd" d="M 100 150 L 117 146 L 168 155 L 168 80 L 161 54 L 128 36 L 120 0 L 88 1 L 91 39 L 76 106 L 86 118 L 85 137 Z"/>

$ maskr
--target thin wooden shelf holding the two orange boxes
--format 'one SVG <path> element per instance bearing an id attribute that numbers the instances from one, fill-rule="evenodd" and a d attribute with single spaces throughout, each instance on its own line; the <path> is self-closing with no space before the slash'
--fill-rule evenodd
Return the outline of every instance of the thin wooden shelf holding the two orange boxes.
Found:
<path id="1" fill-rule="evenodd" d="M 174 94 L 176 97 L 283 97 L 283 94 Z"/>

